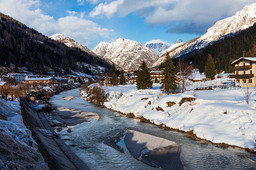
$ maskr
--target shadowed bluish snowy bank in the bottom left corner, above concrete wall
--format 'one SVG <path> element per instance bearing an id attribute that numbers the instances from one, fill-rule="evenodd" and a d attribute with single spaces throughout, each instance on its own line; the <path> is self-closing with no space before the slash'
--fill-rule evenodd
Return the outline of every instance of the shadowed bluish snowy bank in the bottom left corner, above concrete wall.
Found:
<path id="1" fill-rule="evenodd" d="M 19 100 L 0 98 L 0 169 L 49 169 L 31 131 L 24 125 Z"/>

